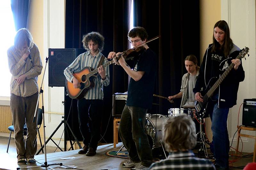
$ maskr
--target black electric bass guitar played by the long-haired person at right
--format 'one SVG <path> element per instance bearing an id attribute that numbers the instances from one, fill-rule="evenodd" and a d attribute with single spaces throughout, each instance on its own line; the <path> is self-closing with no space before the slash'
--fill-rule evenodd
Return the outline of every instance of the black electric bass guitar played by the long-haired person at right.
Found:
<path id="1" fill-rule="evenodd" d="M 238 56 L 236 57 L 236 59 L 242 59 L 244 58 L 244 56 L 248 53 L 249 48 L 245 47 L 243 48 L 240 53 L 238 54 Z M 248 55 L 249 56 L 249 55 Z M 207 93 L 202 92 L 202 94 L 205 94 L 203 97 L 203 102 L 195 102 L 195 108 L 196 108 L 196 115 L 200 118 L 205 118 L 208 116 L 208 113 L 206 112 L 206 108 L 207 108 L 207 104 L 208 104 L 208 100 L 209 98 L 213 95 L 214 91 L 220 86 L 220 83 L 227 77 L 227 75 L 229 74 L 229 72 L 231 71 L 231 69 L 235 66 L 235 64 L 231 63 L 229 65 L 229 67 L 226 69 L 226 71 L 220 76 L 220 78 L 213 84 L 213 86 L 207 91 L 208 86 L 206 88 L 205 91 L 207 91 Z"/>

